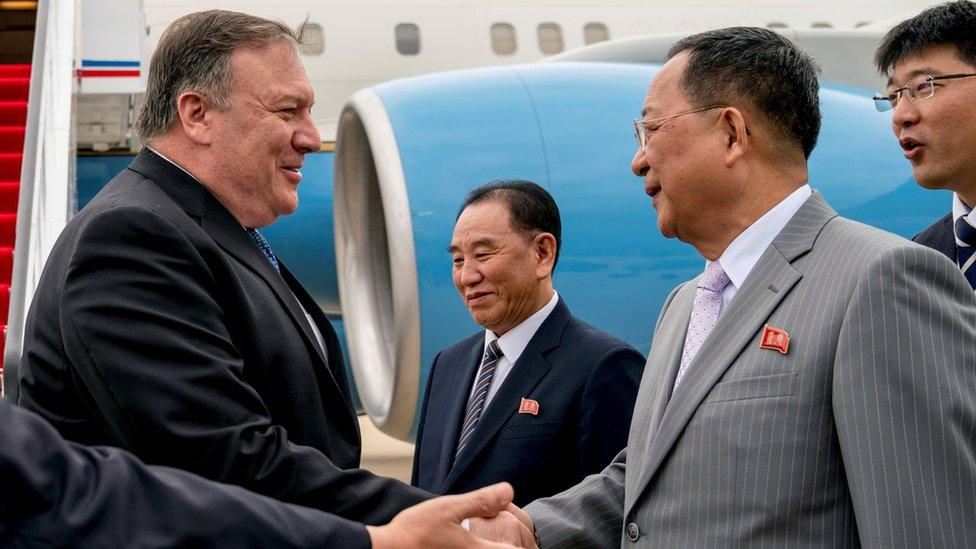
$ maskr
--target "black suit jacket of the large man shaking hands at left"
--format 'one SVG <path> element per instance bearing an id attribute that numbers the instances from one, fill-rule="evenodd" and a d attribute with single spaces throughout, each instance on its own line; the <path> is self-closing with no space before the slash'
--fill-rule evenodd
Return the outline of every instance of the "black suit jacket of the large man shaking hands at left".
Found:
<path id="1" fill-rule="evenodd" d="M 332 326 L 206 188 L 148 149 L 65 227 L 23 357 L 20 403 L 69 440 L 367 524 L 429 497 L 355 469 Z"/>

